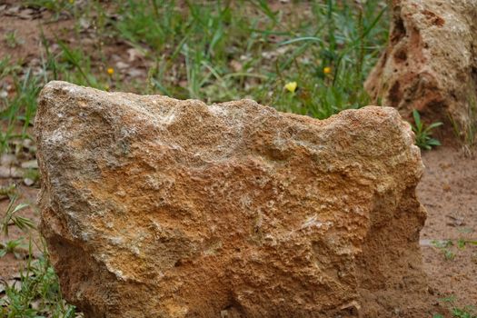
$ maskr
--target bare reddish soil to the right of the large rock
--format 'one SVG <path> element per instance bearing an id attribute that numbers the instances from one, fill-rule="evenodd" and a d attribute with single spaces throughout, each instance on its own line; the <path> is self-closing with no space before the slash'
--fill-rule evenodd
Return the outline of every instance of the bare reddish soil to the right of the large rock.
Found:
<path id="1" fill-rule="evenodd" d="M 422 160 L 426 168 L 417 193 L 428 213 L 421 247 L 430 293 L 436 303 L 451 297 L 456 306 L 477 306 L 477 245 L 457 246 L 458 240 L 477 241 L 477 159 L 439 147 L 424 152 Z M 439 248 L 434 240 L 453 245 Z M 446 259 L 446 249 L 453 259 Z"/>

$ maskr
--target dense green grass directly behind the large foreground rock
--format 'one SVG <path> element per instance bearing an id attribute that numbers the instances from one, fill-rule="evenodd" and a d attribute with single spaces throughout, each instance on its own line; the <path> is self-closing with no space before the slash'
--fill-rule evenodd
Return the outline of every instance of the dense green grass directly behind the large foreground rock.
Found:
<path id="1" fill-rule="evenodd" d="M 125 1 L 114 29 L 154 60 L 154 93 L 209 103 L 247 96 L 318 118 L 369 102 L 363 79 L 387 39 L 382 2 L 314 2 L 306 19 L 252 3 Z M 290 81 L 296 94 L 283 90 Z"/>

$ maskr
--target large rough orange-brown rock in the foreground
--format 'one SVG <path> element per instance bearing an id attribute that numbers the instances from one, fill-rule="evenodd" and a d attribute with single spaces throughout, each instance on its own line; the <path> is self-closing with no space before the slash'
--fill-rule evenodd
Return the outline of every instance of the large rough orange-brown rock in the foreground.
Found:
<path id="1" fill-rule="evenodd" d="M 51 82 L 35 130 L 41 229 L 87 317 L 419 316 L 422 162 L 393 108 Z"/>

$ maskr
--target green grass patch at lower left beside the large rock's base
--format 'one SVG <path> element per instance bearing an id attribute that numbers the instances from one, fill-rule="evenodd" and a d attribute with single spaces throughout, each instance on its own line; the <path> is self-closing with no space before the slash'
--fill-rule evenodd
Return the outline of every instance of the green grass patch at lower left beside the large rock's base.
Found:
<path id="1" fill-rule="evenodd" d="M 16 204 L 15 187 L 2 189 L 5 190 L 3 194 L 10 197 L 10 204 L 0 220 L 0 262 L 11 253 L 17 259 L 25 259 L 25 263 L 16 279 L 0 280 L 0 290 L 5 292 L 5 296 L 0 298 L 0 317 L 75 317 L 75 307 L 61 298 L 58 278 L 48 261 L 45 242 L 41 238 L 39 242 L 35 241 L 34 237 L 39 236 L 34 235 L 35 224 L 32 220 L 18 215 L 28 204 Z M 10 239 L 11 227 L 21 230 L 25 236 Z M 41 252 L 40 256 L 34 256 L 34 244 Z"/>

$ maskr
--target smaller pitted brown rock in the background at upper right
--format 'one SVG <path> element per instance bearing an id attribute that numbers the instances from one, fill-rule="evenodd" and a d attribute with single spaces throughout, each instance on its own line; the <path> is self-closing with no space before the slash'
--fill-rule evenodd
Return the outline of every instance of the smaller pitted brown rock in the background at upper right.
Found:
<path id="1" fill-rule="evenodd" d="M 477 0 L 391 4 L 389 45 L 364 85 L 374 102 L 448 131 L 477 125 Z"/>

